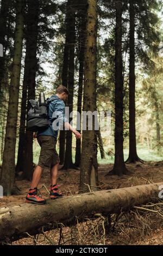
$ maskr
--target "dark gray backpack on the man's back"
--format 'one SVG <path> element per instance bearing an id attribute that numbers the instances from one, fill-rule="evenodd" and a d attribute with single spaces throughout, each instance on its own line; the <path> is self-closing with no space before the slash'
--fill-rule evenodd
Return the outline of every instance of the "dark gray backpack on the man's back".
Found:
<path id="1" fill-rule="evenodd" d="M 46 99 L 45 102 L 29 100 L 30 109 L 27 115 L 27 130 L 32 132 L 43 131 L 48 128 L 51 121 L 48 119 L 48 107 L 52 100 Z"/>

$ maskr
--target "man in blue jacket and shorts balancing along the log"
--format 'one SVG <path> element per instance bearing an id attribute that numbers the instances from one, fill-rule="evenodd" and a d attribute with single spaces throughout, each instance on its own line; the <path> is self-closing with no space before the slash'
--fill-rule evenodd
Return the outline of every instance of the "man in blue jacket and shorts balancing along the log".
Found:
<path id="1" fill-rule="evenodd" d="M 60 198 L 62 193 L 59 190 L 57 185 L 57 173 L 59 165 L 59 155 L 55 149 L 57 143 L 58 129 L 54 128 L 54 123 L 56 123 L 56 118 L 54 118 L 55 113 L 57 113 L 58 123 L 64 124 L 67 130 L 70 130 L 74 133 L 77 139 L 81 137 L 80 133 L 73 129 L 73 127 L 68 123 L 65 118 L 65 103 L 68 97 L 68 90 L 64 86 L 59 86 L 55 92 L 55 95 L 52 95 L 49 100 L 54 99 L 49 103 L 48 116 L 51 121 L 51 125 L 46 130 L 42 132 L 37 132 L 37 135 L 34 134 L 34 138 L 37 138 L 37 141 L 40 144 L 41 151 L 39 157 L 39 163 L 36 166 L 33 173 L 33 180 L 30 186 L 29 192 L 26 197 L 27 203 L 34 204 L 45 204 L 46 200 L 43 199 L 40 194 L 37 192 L 37 186 L 40 182 L 43 168 L 49 168 L 51 174 L 51 191 L 50 198 Z M 55 120 L 54 120 L 55 119 Z"/>

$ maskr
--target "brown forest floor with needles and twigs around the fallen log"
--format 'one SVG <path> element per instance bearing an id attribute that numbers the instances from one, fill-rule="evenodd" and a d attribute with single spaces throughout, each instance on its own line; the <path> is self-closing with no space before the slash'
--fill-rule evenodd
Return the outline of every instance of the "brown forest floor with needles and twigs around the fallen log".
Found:
<path id="1" fill-rule="evenodd" d="M 112 166 L 112 164 L 99 165 L 99 185 L 103 190 L 161 182 L 163 179 L 163 162 L 127 164 L 130 174 L 121 178 L 105 176 Z M 79 170 L 59 170 L 58 184 L 64 196 L 77 194 Z M 24 203 L 30 181 L 16 181 L 16 185 L 20 188 L 21 195 L 1 198 L 0 206 Z M 42 185 L 49 188 L 48 170 L 44 170 L 40 187 Z M 41 190 L 41 194 L 44 198 L 48 198 L 45 189 Z M 60 245 L 99 245 L 104 244 L 103 240 L 105 245 L 163 245 L 163 215 L 157 212 L 134 209 L 120 216 L 111 215 L 110 224 L 111 228 L 106 228 L 105 236 L 103 236 L 102 219 L 97 218 L 79 223 L 73 228 L 62 228 L 62 236 L 60 236 L 60 229 L 55 229 L 47 231 L 45 235 L 39 234 L 35 239 L 33 237 L 20 239 L 12 242 L 12 245 L 58 245 L 58 243 Z"/>

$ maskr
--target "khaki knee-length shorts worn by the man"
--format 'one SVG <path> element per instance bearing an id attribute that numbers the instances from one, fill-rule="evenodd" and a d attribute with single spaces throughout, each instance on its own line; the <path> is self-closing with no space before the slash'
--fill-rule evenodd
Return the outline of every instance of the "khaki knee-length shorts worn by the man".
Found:
<path id="1" fill-rule="evenodd" d="M 59 155 L 55 149 L 57 139 L 52 136 L 40 135 L 37 142 L 41 147 L 38 166 L 42 168 L 52 168 L 59 163 Z"/>

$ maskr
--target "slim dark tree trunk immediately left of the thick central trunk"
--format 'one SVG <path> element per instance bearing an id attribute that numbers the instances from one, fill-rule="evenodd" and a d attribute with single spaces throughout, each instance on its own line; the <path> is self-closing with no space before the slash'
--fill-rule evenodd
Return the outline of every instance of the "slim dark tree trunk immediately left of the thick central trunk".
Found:
<path id="1" fill-rule="evenodd" d="M 78 107 L 77 107 L 77 131 L 81 132 L 82 116 L 82 94 L 83 94 L 83 76 L 84 76 L 84 48 L 85 48 L 85 31 L 86 31 L 86 1 L 85 7 L 79 9 L 79 87 L 78 87 Z M 79 167 L 81 161 L 81 139 L 76 140 L 76 158 L 75 166 Z"/>

